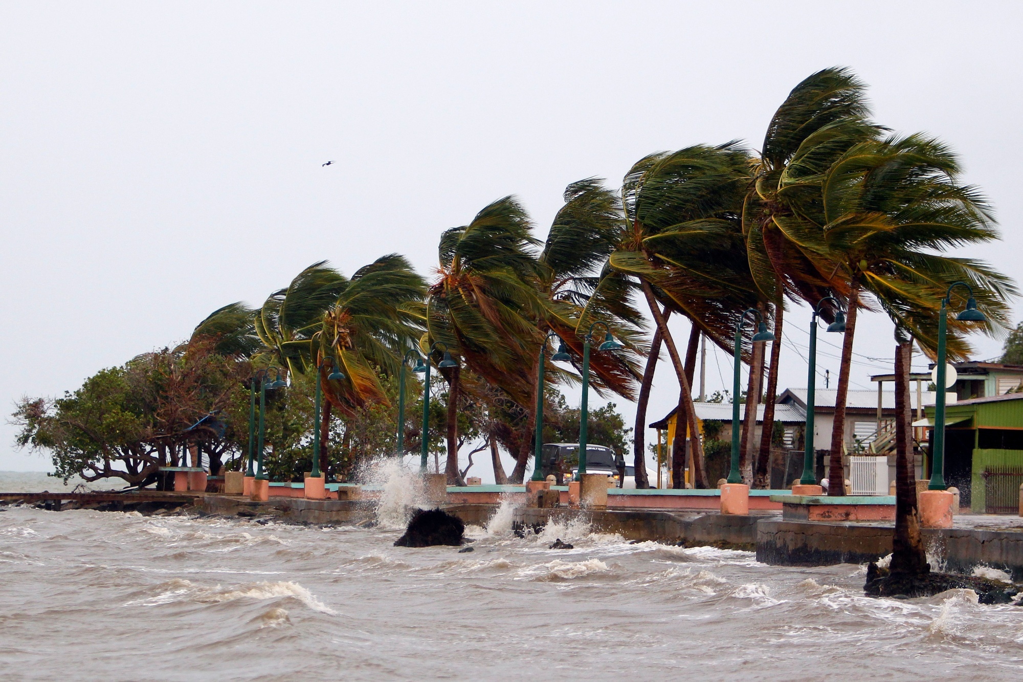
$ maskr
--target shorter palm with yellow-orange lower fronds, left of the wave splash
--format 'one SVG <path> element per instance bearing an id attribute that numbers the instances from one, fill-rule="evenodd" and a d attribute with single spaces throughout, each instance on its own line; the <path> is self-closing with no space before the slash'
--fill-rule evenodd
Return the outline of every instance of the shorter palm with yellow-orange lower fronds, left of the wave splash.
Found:
<path id="1" fill-rule="evenodd" d="M 311 355 L 317 358 L 316 365 L 321 357 L 331 357 L 345 375 L 329 381 L 330 370 L 322 370 L 327 398 L 319 424 L 323 471 L 329 463 L 331 407 L 352 417 L 367 402 L 387 402 L 381 373 L 396 376 L 405 351 L 421 334 L 427 285 L 404 256 L 389 254 L 356 270 L 341 289 L 312 338 Z M 407 390 L 407 397 L 411 397 L 413 387 Z"/>

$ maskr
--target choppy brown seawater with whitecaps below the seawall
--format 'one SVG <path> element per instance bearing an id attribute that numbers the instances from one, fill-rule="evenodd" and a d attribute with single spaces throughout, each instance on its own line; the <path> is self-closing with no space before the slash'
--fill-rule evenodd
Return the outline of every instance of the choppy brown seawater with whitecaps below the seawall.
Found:
<path id="1" fill-rule="evenodd" d="M 4 680 L 1023 676 L 1023 608 L 862 596 L 863 568 L 630 545 L 582 526 L 475 550 L 399 530 L 0 512 Z M 573 550 L 548 550 L 555 538 Z"/>

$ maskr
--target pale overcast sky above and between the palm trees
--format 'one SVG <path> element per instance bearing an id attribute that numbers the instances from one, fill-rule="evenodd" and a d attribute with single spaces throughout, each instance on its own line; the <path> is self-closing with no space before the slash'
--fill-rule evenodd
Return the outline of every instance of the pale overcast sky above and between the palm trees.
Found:
<path id="1" fill-rule="evenodd" d="M 440 232 L 508 194 L 542 238 L 569 182 L 617 187 L 640 157 L 697 142 L 759 147 L 789 90 L 831 66 L 870 84 L 879 121 L 962 155 L 1005 236 L 970 255 L 1015 274 L 1021 15 L 934 1 L 0 3 L 0 406 L 180 341 L 316 260 L 351 273 L 397 251 L 431 276 Z M 786 325 L 804 354 L 808 319 Z M 860 319 L 865 388 L 893 342 L 881 314 Z M 998 354 L 976 341 L 978 358 Z M 837 350 L 820 350 L 837 374 Z M 709 359 L 710 391 L 730 366 Z M 805 386 L 796 350 L 784 363 L 781 387 Z M 677 401 L 669 370 L 652 419 Z M 0 424 L 0 469 L 49 468 L 13 436 Z"/>

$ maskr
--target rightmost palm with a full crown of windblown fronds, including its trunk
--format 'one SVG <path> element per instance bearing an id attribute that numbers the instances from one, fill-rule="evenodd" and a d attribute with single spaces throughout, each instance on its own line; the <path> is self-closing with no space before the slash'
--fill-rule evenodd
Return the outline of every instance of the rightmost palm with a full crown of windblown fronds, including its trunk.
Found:
<path id="1" fill-rule="evenodd" d="M 818 176 L 820 228 L 807 230 L 806 240 L 836 264 L 849 292 L 840 394 L 848 388 L 861 292 L 925 349 L 937 346 L 932 323 L 957 281 L 973 288 L 989 321 L 980 326 L 983 331 L 1007 324 L 1005 301 L 1016 293 L 1012 281 L 985 263 L 941 254 L 997 239 L 987 202 L 959 180 L 960 173 L 945 145 L 910 135 L 860 142 Z M 949 327 L 949 356 L 962 356 L 969 350 L 962 335 L 973 326 L 950 321 Z M 839 484 L 831 486 L 832 495 L 843 494 L 843 427 L 844 414 L 836 408 L 830 477 Z"/>

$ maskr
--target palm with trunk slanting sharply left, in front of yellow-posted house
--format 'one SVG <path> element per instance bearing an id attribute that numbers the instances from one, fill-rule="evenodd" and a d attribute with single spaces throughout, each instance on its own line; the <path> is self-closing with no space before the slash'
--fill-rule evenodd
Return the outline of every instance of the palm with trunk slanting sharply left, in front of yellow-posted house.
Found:
<path id="1" fill-rule="evenodd" d="M 640 160 L 623 185 L 628 230 L 608 259 L 610 268 L 638 283 L 667 346 L 680 387 L 679 418 L 685 418 L 684 424 L 679 419 L 679 429 L 690 433 L 701 487 L 708 481 L 688 378 L 692 370 L 686 372 L 665 313 L 675 310 L 685 315 L 694 327 L 693 340 L 703 332 L 730 352 L 736 324 L 743 310 L 758 300 L 739 225 L 747 169 L 747 153 L 735 142 L 696 145 Z M 675 458 L 676 485 L 681 484 L 679 466 Z"/>

